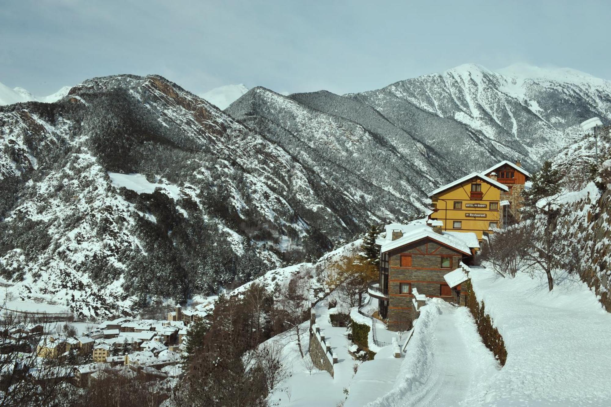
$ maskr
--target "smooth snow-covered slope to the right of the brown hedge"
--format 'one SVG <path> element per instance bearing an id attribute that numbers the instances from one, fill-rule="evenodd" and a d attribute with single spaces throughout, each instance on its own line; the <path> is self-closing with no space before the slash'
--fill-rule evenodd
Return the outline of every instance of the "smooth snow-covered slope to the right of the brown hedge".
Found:
<path id="1" fill-rule="evenodd" d="M 474 269 L 472 284 L 507 348 L 485 405 L 611 405 L 611 314 L 577 276 L 503 279 Z"/>

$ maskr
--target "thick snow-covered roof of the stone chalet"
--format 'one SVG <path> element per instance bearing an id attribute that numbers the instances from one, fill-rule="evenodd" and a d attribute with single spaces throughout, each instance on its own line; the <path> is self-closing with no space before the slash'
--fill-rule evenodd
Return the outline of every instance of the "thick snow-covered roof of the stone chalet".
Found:
<path id="1" fill-rule="evenodd" d="M 423 223 L 401 226 L 401 230 L 403 231 L 403 237 L 398 238 L 397 240 L 386 240 L 386 243 L 382 244 L 382 253 L 399 248 L 401 246 L 404 246 L 405 244 L 409 244 L 413 241 L 417 241 L 423 238 L 430 238 L 431 240 L 437 241 L 439 243 L 445 244 L 446 246 L 450 246 L 451 248 L 461 251 L 464 254 L 471 254 L 470 248 L 480 247 L 479 244 L 475 244 L 475 246 L 469 246 L 469 244 L 473 245 L 477 242 L 477 237 L 475 236 L 475 233 L 437 233 L 434 232 L 431 227 L 426 226 L 426 224 Z M 460 235 L 458 235 L 457 233 L 460 233 Z M 461 235 L 466 236 L 463 237 Z M 473 235 L 473 237 L 469 235 Z M 473 241 L 473 238 L 475 238 L 475 242 Z"/>

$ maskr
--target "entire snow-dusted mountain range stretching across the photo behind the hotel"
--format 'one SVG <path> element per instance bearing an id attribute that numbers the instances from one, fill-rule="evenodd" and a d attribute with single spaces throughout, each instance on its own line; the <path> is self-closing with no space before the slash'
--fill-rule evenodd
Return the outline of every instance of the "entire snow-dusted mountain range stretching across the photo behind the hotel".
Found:
<path id="1" fill-rule="evenodd" d="M 159 76 L 93 78 L 0 107 L 0 273 L 85 316 L 209 293 L 421 215 L 471 171 L 533 171 L 610 112 L 608 81 L 515 66 L 343 96 L 255 87 L 225 111 Z"/>

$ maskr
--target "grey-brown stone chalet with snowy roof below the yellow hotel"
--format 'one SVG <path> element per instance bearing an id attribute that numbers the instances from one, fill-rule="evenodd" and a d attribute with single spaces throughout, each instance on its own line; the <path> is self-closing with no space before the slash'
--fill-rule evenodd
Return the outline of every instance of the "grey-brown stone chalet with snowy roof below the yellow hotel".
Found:
<path id="1" fill-rule="evenodd" d="M 386 237 L 376 240 L 381 246 L 379 282 L 368 293 L 378 298 L 379 317 L 392 331 L 411 328 L 418 301 L 425 296 L 461 303 L 460 284 L 450 287 L 444 276 L 461 262 L 472 263 L 480 247 L 477 235 L 442 230 L 439 223 L 419 219 L 390 224 Z"/>

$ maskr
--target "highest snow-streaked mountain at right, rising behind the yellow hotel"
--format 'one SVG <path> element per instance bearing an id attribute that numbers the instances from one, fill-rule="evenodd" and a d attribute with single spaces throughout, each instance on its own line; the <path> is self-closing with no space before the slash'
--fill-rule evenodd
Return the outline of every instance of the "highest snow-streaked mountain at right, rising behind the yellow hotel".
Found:
<path id="1" fill-rule="evenodd" d="M 534 169 L 574 141 L 583 120 L 611 119 L 611 82 L 574 70 L 525 65 L 499 72 L 461 65 L 345 96 L 373 106 L 469 170 L 478 164 L 473 156 L 521 159 Z"/>

